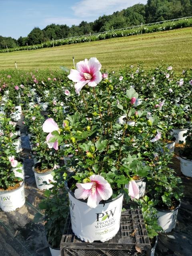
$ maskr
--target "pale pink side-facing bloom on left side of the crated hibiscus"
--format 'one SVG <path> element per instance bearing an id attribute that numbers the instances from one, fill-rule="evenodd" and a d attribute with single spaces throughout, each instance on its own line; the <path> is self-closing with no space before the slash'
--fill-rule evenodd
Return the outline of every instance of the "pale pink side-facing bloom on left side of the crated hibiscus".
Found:
<path id="1" fill-rule="evenodd" d="M 49 142 L 50 138 L 54 137 L 54 135 L 52 135 L 51 133 L 53 131 L 59 130 L 59 127 L 56 124 L 56 122 L 52 118 L 48 118 L 47 120 L 45 120 L 42 128 L 43 128 L 44 132 L 49 132 L 48 136 L 46 137 L 46 142 L 48 144 L 48 147 L 58 150 L 58 141 L 57 140 L 55 142 Z"/>

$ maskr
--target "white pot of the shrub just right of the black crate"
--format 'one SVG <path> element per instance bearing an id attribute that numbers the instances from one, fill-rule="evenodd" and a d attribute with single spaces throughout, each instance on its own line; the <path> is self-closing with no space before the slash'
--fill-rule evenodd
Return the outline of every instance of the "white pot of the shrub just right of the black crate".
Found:
<path id="1" fill-rule="evenodd" d="M 175 228 L 176 220 L 177 220 L 177 214 L 178 209 L 181 204 L 179 204 L 178 207 L 176 207 L 174 210 L 159 210 L 157 209 L 156 217 L 158 218 L 157 222 L 162 227 L 163 231 L 171 232 L 173 228 Z"/>

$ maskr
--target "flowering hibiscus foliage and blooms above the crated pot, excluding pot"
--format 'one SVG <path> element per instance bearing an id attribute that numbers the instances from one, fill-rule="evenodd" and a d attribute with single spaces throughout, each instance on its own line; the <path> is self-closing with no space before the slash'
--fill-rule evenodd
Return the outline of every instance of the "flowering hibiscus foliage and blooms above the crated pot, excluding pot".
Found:
<path id="1" fill-rule="evenodd" d="M 68 78 L 75 82 L 75 91 L 82 99 L 81 108 L 74 109 L 74 114 L 67 114 L 62 127 L 52 118 L 43 124 L 44 132 L 49 133 L 46 141 L 50 148 L 58 150 L 59 145 L 68 145 L 60 151 L 70 156 L 66 167 L 74 170 L 70 189 L 77 198 L 88 198 L 90 207 L 120 193 L 124 193 L 127 201 L 130 196 L 138 197 L 138 187 L 134 189 L 137 173 L 131 169 L 130 154 L 138 154 L 140 149 L 144 151 L 146 146 L 160 139 L 160 133 L 154 138 L 158 118 L 147 118 L 146 111 L 134 108 L 139 97 L 134 88 L 116 94 L 112 80 L 106 77 L 102 80 L 100 68 L 96 58 L 78 62 Z M 125 122 L 118 124 L 122 114 L 126 116 Z M 134 126 L 128 124 L 132 116 Z M 139 158 L 142 162 L 142 154 Z M 138 175 L 145 176 L 148 167 L 141 168 L 138 162 L 135 165 L 140 166 L 136 168 Z M 129 183 L 130 189 L 125 188 Z"/>

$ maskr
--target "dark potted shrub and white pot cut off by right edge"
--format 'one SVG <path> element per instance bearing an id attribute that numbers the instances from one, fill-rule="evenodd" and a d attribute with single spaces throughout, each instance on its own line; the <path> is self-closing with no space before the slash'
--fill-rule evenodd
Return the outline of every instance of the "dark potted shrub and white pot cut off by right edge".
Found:
<path id="1" fill-rule="evenodd" d="M 184 148 L 180 150 L 181 172 L 185 176 L 192 177 L 192 126 L 184 135 L 187 137 Z"/>

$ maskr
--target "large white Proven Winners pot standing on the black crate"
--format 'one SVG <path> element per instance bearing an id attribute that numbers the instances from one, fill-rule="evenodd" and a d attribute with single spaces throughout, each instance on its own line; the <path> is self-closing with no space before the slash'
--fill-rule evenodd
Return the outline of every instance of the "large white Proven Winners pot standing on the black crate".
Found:
<path id="1" fill-rule="evenodd" d="M 65 188 L 70 202 L 72 231 L 78 238 L 85 242 L 105 242 L 118 233 L 123 194 L 114 199 L 101 201 L 96 208 L 90 208 L 86 200 L 75 198 L 67 181 Z"/>

